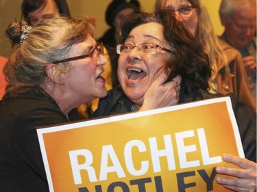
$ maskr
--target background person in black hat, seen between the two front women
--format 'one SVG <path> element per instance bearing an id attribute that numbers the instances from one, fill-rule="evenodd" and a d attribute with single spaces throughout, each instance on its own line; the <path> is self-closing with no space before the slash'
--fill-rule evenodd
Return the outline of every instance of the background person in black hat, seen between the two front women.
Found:
<path id="1" fill-rule="evenodd" d="M 104 66 L 103 77 L 106 79 L 106 89 L 119 85 L 117 78 L 117 60 L 119 55 L 116 53 L 116 45 L 121 39 L 121 21 L 125 16 L 132 12 L 139 12 L 140 3 L 137 0 L 113 0 L 106 10 L 106 23 L 110 25 L 103 36 L 97 41 L 103 42 L 104 52 L 107 63 Z M 92 102 L 85 103 L 78 108 L 80 114 L 88 118 L 97 109 L 99 98 Z"/>

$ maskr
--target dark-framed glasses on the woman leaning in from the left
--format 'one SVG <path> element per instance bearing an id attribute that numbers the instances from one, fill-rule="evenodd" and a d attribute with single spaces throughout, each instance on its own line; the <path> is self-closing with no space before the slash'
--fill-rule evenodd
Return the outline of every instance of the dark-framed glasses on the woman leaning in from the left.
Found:
<path id="1" fill-rule="evenodd" d="M 101 63 L 101 57 L 100 55 L 103 53 L 103 43 L 97 43 L 95 45 L 95 48 L 87 55 L 80 55 L 77 57 L 70 57 L 66 59 L 62 59 L 60 61 L 54 61 L 53 64 L 59 64 L 59 63 L 64 63 L 67 61 L 73 61 L 77 59 L 84 59 L 86 57 L 90 57 L 95 64 L 95 66 L 98 66 Z"/>

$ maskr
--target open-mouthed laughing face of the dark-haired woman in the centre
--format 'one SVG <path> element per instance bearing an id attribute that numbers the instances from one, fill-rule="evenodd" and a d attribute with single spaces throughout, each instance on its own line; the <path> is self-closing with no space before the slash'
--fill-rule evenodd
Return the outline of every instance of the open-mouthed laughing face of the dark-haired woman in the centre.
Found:
<path id="1" fill-rule="evenodd" d="M 171 49 L 171 46 L 164 39 L 163 27 L 159 23 L 146 23 L 134 27 L 124 43 L 137 46 L 138 44 L 149 42 Z M 170 58 L 171 53 L 160 49 L 154 54 L 142 54 L 137 47 L 134 47 L 129 53 L 121 53 L 119 56 L 118 77 L 127 98 L 136 105 L 141 106 L 145 92 L 160 74 L 160 68 Z"/>

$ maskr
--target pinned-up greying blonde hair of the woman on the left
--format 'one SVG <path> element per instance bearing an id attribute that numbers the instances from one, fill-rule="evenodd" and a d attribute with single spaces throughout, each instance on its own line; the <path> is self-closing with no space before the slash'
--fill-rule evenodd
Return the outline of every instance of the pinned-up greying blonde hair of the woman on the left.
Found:
<path id="1" fill-rule="evenodd" d="M 21 25 L 11 23 L 5 30 L 12 44 L 18 44 L 21 37 Z M 13 96 L 29 90 L 41 91 L 40 87 L 47 78 L 47 64 L 69 57 L 73 44 L 82 42 L 86 36 L 95 36 L 93 25 L 88 18 L 66 18 L 57 16 L 40 21 L 27 34 L 27 39 L 10 57 L 5 67 L 9 86 L 7 92 Z M 56 65 L 58 74 L 69 72 L 69 63 Z"/>

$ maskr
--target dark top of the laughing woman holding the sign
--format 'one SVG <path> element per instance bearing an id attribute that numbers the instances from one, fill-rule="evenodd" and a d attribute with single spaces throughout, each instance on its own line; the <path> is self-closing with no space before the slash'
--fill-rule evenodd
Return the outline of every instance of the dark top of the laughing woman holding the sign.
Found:
<path id="1" fill-rule="evenodd" d="M 180 104 L 204 100 L 208 98 L 217 98 L 221 96 L 230 96 L 236 122 L 238 124 L 245 158 L 256 162 L 256 113 L 247 105 L 236 99 L 234 94 L 221 95 L 210 94 L 204 90 L 197 90 L 190 94 L 180 92 Z M 108 96 L 100 98 L 97 111 L 93 113 L 92 118 L 116 115 L 120 113 L 132 112 L 133 103 L 125 96 L 121 87 L 115 87 L 108 92 Z"/>

